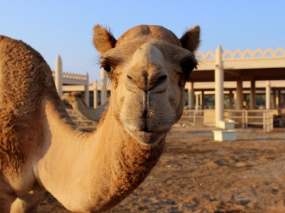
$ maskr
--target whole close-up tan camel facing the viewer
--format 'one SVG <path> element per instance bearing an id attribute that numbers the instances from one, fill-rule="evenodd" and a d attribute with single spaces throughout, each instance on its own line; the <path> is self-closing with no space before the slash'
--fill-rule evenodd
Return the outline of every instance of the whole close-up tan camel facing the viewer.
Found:
<path id="1" fill-rule="evenodd" d="M 50 67 L 21 40 L 0 37 L 0 209 L 35 212 L 48 190 L 72 212 L 103 212 L 145 180 L 182 116 L 197 67 L 199 26 L 179 39 L 136 26 L 118 40 L 93 28 L 110 104 L 93 133 L 73 125 Z"/>

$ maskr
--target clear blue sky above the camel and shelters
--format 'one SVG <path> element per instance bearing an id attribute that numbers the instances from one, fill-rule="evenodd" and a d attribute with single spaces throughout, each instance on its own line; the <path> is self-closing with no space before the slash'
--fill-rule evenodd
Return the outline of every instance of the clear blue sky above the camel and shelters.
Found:
<path id="1" fill-rule="evenodd" d="M 15 1 L 0 0 L 0 34 L 24 40 L 51 69 L 57 55 L 64 72 L 88 72 L 100 80 L 92 28 L 108 26 L 115 38 L 133 26 L 165 26 L 179 38 L 186 28 L 202 28 L 199 50 L 285 49 L 285 1 Z"/>

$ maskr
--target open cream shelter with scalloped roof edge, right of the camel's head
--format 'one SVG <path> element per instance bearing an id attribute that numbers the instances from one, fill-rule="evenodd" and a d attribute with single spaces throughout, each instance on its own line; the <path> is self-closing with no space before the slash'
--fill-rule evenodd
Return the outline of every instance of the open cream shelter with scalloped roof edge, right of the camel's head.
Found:
<path id="1" fill-rule="evenodd" d="M 272 50 L 267 48 L 262 51 L 257 50 L 235 50 L 231 52 L 226 50 L 222 53 L 219 46 L 216 53 L 209 51 L 207 53 L 197 53 L 199 59 L 199 70 L 193 72 L 192 82 L 215 82 L 215 123 L 223 119 L 224 114 L 224 92 L 229 92 L 229 105 L 233 107 L 233 95 L 235 99 L 235 109 L 243 108 L 244 103 L 244 85 L 243 82 L 250 82 L 250 109 L 256 108 L 256 82 L 263 82 L 263 88 L 266 88 L 266 109 L 282 107 L 281 94 L 283 96 L 284 107 L 284 90 L 285 90 L 285 51 L 282 48 Z M 269 80 L 272 82 L 270 83 Z M 282 80 L 283 85 L 274 90 L 271 87 L 275 80 Z M 225 82 L 230 82 L 232 87 L 225 87 Z M 279 82 L 280 83 L 280 82 Z M 271 90 L 273 91 L 273 106 L 271 106 Z M 202 109 L 204 109 L 204 88 L 202 92 Z M 277 94 L 276 94 L 277 92 Z M 190 102 L 191 103 L 191 102 Z M 194 106 L 189 106 L 192 109 Z"/>

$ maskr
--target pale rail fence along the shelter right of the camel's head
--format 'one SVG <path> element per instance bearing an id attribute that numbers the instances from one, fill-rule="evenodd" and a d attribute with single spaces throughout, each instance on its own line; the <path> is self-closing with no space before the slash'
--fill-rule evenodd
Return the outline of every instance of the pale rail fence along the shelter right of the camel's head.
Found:
<path id="1" fill-rule="evenodd" d="M 249 126 L 262 127 L 264 132 L 273 129 L 273 111 L 272 110 L 235 110 L 225 109 L 224 119 L 232 119 L 235 126 L 247 128 Z M 180 123 L 191 125 L 214 126 L 214 109 L 185 109 L 180 119 Z"/>

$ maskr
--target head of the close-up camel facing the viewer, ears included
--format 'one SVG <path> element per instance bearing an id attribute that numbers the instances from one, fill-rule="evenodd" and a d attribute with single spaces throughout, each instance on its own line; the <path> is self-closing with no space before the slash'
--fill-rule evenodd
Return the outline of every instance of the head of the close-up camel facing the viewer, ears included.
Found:
<path id="1" fill-rule="evenodd" d="M 93 41 L 111 80 L 116 119 L 139 142 L 160 141 L 182 116 L 185 83 L 197 66 L 199 26 L 180 39 L 161 26 L 137 26 L 115 40 L 96 25 Z"/>

